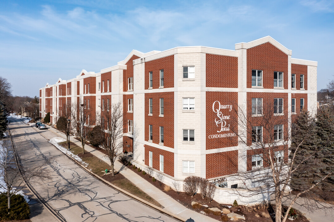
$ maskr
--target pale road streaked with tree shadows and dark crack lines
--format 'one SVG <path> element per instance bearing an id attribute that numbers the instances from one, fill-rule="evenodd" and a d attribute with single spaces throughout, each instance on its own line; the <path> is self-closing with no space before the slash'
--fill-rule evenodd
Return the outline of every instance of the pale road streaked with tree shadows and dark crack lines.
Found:
<path id="1" fill-rule="evenodd" d="M 177 221 L 114 190 L 78 167 L 41 135 L 55 137 L 49 130 L 36 132 L 21 120 L 8 119 L 14 143 L 22 149 L 24 164 L 34 166 L 46 158 L 53 158 L 54 161 L 47 166 L 52 179 L 35 181 L 31 185 L 62 220 Z"/>

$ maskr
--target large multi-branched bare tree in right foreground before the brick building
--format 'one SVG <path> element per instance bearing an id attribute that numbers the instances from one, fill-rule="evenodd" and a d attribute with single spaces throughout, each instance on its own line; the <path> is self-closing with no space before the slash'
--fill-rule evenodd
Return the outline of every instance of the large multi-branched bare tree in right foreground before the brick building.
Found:
<path id="1" fill-rule="evenodd" d="M 314 142 L 312 137 L 316 134 L 314 130 L 316 116 L 308 115 L 303 133 L 296 139 L 292 137 L 292 132 L 296 131 L 291 128 L 292 122 L 287 115 L 288 110 L 286 108 L 282 115 L 283 104 L 280 103 L 275 101 L 255 108 L 236 106 L 234 112 L 237 118 L 232 117 L 231 121 L 238 124 L 230 124 L 237 125 L 230 130 L 237 135 L 240 146 L 244 147 L 242 152 L 247 163 L 247 169 L 240 170 L 233 179 L 242 182 L 240 183 L 244 184 L 242 188 L 248 192 L 245 194 L 238 189 L 235 189 L 235 192 L 245 197 L 265 193 L 274 195 L 276 222 L 285 222 L 296 200 L 305 193 L 314 192 L 318 185 L 333 175 L 333 172 L 319 174 L 314 183 L 304 184 L 303 189 L 295 195 L 286 192 L 290 189 L 293 173 L 301 168 L 314 166 L 312 161 L 317 161 L 314 157 L 317 153 L 323 152 L 323 149 L 313 149 L 306 153 L 301 150 L 304 144 Z M 252 116 L 252 113 L 256 114 Z M 292 140 L 294 143 L 291 144 Z M 303 158 L 297 158 L 300 155 L 304 155 Z M 282 200 L 287 199 L 289 199 L 286 202 L 288 209 L 281 219 Z M 319 203 L 316 198 L 313 201 Z M 314 204 L 310 205 L 308 201 L 303 204 L 306 207 L 314 207 Z"/>

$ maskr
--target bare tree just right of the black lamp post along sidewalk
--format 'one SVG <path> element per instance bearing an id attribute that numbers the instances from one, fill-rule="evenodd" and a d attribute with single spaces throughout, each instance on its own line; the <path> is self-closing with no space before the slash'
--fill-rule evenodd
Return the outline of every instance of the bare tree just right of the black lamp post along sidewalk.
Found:
<path id="1" fill-rule="evenodd" d="M 82 97 L 79 98 L 78 104 L 72 103 L 71 125 L 74 127 L 77 137 L 79 137 L 82 146 L 82 154 L 85 154 L 85 145 L 88 141 L 88 134 L 92 130 L 95 123 L 93 118 L 90 118 L 90 110 Z"/>

